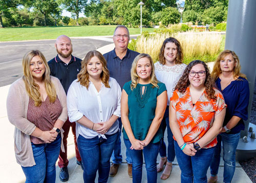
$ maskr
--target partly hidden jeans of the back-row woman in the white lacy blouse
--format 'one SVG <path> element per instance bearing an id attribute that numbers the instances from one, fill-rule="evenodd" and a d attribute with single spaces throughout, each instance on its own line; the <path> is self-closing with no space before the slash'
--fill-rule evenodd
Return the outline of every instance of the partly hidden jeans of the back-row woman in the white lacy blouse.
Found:
<path id="1" fill-rule="evenodd" d="M 169 163 L 172 163 L 175 158 L 175 150 L 174 150 L 173 133 L 172 133 L 172 130 L 170 130 L 170 126 L 169 126 L 169 106 L 168 105 L 165 109 L 163 120 L 162 120 L 161 126 L 160 126 L 160 128 L 162 128 L 162 130 L 163 130 L 163 134 L 164 134 L 166 126 L 167 126 L 167 139 L 168 139 L 167 161 Z M 166 157 L 166 145 L 164 143 L 163 138 L 160 140 L 159 154 L 161 157 Z"/>

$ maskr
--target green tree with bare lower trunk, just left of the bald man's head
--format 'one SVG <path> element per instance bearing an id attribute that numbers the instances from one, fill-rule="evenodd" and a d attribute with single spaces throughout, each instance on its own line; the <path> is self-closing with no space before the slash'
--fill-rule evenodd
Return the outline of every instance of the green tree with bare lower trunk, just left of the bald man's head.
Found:
<path id="1" fill-rule="evenodd" d="M 56 16 L 60 14 L 58 4 L 54 0 L 33 0 L 31 3 L 33 3 L 33 7 L 44 16 L 44 26 L 48 25 L 47 20 L 50 15 Z"/>

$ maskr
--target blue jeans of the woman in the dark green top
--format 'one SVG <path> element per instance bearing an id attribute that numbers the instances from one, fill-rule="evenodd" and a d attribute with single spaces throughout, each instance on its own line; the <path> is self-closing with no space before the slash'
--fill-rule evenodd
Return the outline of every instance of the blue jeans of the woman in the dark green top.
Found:
<path id="1" fill-rule="evenodd" d="M 147 182 L 157 182 L 157 155 L 159 152 L 160 142 L 150 143 L 143 150 L 132 150 L 129 140 L 123 139 L 126 149 L 129 151 L 133 160 L 133 183 L 141 182 L 143 154 L 146 164 Z"/>

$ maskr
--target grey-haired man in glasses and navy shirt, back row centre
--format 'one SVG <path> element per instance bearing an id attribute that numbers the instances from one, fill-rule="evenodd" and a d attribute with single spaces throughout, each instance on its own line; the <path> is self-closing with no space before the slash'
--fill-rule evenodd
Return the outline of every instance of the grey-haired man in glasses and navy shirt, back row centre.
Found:
<path id="1" fill-rule="evenodd" d="M 117 26 L 114 32 L 113 41 L 115 43 L 115 49 L 104 54 L 108 69 L 110 71 L 110 77 L 115 78 L 123 88 L 124 83 L 131 80 L 131 67 L 134 58 L 139 55 L 138 52 L 128 49 L 128 43 L 130 40 L 129 30 L 125 26 Z M 115 176 L 118 171 L 119 165 L 122 163 L 121 155 L 121 128 L 122 122 L 119 118 L 119 138 L 116 142 L 114 151 L 112 153 L 112 165 L 110 168 L 110 176 Z M 128 175 L 132 177 L 132 158 L 126 150 L 126 162 L 128 165 Z"/>

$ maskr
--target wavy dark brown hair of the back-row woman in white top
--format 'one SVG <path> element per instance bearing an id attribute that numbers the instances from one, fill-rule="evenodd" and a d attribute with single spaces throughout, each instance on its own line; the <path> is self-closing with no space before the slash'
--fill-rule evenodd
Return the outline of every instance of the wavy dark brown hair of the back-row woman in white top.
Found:
<path id="1" fill-rule="evenodd" d="M 163 44 L 162 44 L 162 47 L 161 47 L 160 53 L 159 53 L 159 62 L 163 65 L 165 64 L 164 49 L 165 49 L 166 43 L 168 43 L 168 42 L 175 43 L 175 45 L 177 47 L 177 57 L 176 57 L 176 60 L 175 60 L 175 64 L 181 64 L 183 62 L 182 47 L 181 47 L 180 42 L 174 37 L 169 37 L 169 38 L 167 38 L 163 41 Z"/>

